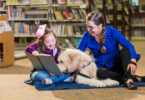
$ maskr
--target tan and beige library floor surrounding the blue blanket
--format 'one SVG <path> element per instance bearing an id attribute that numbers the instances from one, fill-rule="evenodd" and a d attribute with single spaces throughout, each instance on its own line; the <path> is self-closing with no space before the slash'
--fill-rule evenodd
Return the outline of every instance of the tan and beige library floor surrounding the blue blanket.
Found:
<path id="1" fill-rule="evenodd" d="M 145 75 L 145 41 L 132 43 L 141 54 L 137 74 Z M 34 86 L 24 84 L 29 79 L 29 64 L 28 59 L 21 59 L 14 66 L 0 68 L 0 100 L 145 100 L 145 87 L 37 91 Z"/>

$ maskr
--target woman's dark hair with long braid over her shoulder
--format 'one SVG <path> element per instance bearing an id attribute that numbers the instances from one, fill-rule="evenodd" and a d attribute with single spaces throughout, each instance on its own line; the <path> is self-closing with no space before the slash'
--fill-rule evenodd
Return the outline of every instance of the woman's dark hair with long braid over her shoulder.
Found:
<path id="1" fill-rule="evenodd" d="M 100 47 L 101 47 L 101 52 L 104 53 L 106 52 L 106 48 L 104 47 L 104 43 L 105 43 L 105 32 L 106 32 L 106 28 L 105 26 L 105 18 L 103 16 L 103 14 L 100 11 L 93 11 L 91 13 L 88 14 L 86 21 L 93 21 L 95 23 L 95 25 L 100 25 L 102 24 L 103 28 L 102 28 L 102 38 L 100 40 Z"/>

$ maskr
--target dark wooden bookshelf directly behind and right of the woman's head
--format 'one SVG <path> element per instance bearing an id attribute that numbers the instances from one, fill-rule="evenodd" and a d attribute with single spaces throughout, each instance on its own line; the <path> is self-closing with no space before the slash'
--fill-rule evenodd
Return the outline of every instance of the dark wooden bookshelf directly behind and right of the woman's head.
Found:
<path id="1" fill-rule="evenodd" d="M 103 0 L 103 13 L 106 24 L 117 28 L 131 40 L 131 13 L 129 0 Z"/>

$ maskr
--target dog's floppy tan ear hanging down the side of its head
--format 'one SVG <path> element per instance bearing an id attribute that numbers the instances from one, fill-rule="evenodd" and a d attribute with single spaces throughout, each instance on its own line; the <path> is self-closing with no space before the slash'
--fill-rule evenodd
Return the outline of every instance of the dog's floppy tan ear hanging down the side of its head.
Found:
<path id="1" fill-rule="evenodd" d="M 71 53 L 68 55 L 69 57 L 69 72 L 74 72 L 78 68 L 78 64 L 80 61 L 80 55 L 77 53 Z"/>

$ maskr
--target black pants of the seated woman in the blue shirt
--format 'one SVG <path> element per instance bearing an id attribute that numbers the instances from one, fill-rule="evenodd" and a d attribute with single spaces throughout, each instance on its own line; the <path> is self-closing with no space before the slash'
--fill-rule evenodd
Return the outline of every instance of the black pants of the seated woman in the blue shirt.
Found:
<path id="1" fill-rule="evenodd" d="M 100 79 L 111 78 L 113 80 L 119 81 L 120 83 L 124 82 L 128 78 L 135 80 L 135 78 L 131 75 L 131 72 L 127 70 L 129 62 L 129 50 L 127 48 L 123 48 L 119 52 L 119 55 L 115 61 L 115 66 L 111 69 L 108 69 L 106 66 L 98 69 L 97 77 Z"/>

